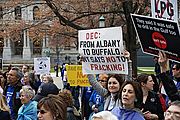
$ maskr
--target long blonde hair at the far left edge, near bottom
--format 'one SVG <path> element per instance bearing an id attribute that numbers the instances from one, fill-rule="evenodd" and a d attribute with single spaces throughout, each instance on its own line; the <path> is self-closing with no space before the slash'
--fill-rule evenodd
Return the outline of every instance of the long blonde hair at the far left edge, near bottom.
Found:
<path id="1" fill-rule="evenodd" d="M 2 93 L 0 93 L 0 110 L 10 112 L 10 109 L 7 106 L 6 97 Z"/>

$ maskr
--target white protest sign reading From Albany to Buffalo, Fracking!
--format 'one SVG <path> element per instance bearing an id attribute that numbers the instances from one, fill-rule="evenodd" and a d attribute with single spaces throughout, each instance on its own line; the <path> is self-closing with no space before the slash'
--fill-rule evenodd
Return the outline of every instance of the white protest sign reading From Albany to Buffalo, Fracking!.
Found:
<path id="1" fill-rule="evenodd" d="M 127 74 L 121 27 L 78 31 L 83 74 Z"/>

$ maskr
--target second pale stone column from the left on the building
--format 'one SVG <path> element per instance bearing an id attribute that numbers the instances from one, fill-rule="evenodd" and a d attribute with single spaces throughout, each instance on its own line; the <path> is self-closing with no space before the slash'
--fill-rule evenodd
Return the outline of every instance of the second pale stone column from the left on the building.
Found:
<path id="1" fill-rule="evenodd" d="M 30 49 L 29 31 L 24 30 L 23 34 L 24 34 L 23 59 L 30 60 L 31 59 L 31 49 Z"/>

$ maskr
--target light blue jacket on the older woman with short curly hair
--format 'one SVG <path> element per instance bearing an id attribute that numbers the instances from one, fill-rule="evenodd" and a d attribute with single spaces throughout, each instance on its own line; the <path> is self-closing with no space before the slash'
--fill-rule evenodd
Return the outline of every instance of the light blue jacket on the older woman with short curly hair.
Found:
<path id="1" fill-rule="evenodd" d="M 29 101 L 23 104 L 19 108 L 17 120 L 37 120 L 37 102 Z"/>

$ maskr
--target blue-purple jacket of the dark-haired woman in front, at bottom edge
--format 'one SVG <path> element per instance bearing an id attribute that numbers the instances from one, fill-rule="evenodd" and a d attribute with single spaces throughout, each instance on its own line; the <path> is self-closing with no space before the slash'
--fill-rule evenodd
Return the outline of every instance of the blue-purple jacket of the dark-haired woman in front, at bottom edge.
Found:
<path id="1" fill-rule="evenodd" d="M 133 109 L 115 107 L 111 112 L 118 118 L 118 120 L 145 120 L 139 112 Z"/>

